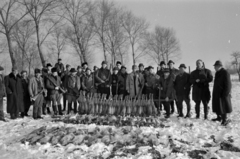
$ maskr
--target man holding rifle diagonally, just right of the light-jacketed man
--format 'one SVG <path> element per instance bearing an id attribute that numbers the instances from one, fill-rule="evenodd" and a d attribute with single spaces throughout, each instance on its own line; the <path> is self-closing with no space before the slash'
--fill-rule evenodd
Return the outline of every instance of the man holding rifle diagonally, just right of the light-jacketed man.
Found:
<path id="1" fill-rule="evenodd" d="M 48 90 L 48 97 L 52 102 L 52 108 L 54 115 L 63 115 L 62 114 L 62 105 L 61 105 L 61 98 L 64 92 L 61 91 L 61 78 L 58 76 L 57 68 L 52 68 L 52 75 L 47 77 L 46 88 Z"/>

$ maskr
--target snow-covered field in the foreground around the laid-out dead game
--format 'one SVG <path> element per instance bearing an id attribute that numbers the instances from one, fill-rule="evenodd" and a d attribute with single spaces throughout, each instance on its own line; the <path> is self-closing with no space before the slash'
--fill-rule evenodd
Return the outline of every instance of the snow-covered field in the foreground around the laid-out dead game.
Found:
<path id="1" fill-rule="evenodd" d="M 115 127 L 95 124 L 65 124 L 52 122 L 50 116 L 43 120 L 31 117 L 9 122 L 0 122 L 0 158 L 1 159 L 72 159 L 72 158 L 166 158 L 166 159 L 237 159 L 240 158 L 240 83 L 233 82 L 232 122 L 223 127 L 219 122 L 195 119 L 192 102 L 192 118 L 169 120 L 158 118 L 161 127 Z M 210 104 L 211 107 L 211 104 Z M 186 110 L 184 110 L 186 112 Z M 7 116 L 9 118 L 9 116 Z M 211 112 L 209 119 L 215 118 Z M 40 144 L 22 143 L 33 130 L 46 126 L 84 130 L 89 135 L 79 144 Z M 94 138 L 98 130 L 102 136 Z M 112 138 L 107 139 L 111 131 Z M 127 131 L 127 133 L 121 133 Z M 104 134 L 105 133 L 105 134 Z M 86 134 L 85 134 L 86 135 Z M 137 139 L 136 139 L 137 136 Z M 139 144 L 141 141 L 141 144 Z M 121 146 L 119 146 L 121 144 Z M 113 153 L 114 151 L 114 153 Z M 115 154 L 115 155 L 114 155 Z"/>

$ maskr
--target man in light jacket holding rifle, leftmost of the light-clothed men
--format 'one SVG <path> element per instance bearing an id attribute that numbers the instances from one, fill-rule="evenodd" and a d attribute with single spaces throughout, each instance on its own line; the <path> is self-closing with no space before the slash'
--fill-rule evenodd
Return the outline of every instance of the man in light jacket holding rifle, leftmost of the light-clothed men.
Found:
<path id="1" fill-rule="evenodd" d="M 34 72 L 35 76 L 29 81 L 28 90 L 33 102 L 33 119 L 42 119 L 42 106 L 44 95 L 47 95 L 47 90 L 41 77 L 41 70 L 36 68 Z"/>

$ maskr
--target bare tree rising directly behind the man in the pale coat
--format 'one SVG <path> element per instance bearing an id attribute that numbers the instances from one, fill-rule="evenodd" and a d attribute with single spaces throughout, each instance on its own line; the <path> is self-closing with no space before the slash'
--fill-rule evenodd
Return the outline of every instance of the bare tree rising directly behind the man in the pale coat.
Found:
<path id="1" fill-rule="evenodd" d="M 136 60 L 145 55 L 145 49 L 142 49 L 141 41 L 148 28 L 148 23 L 145 19 L 134 16 L 132 12 L 127 12 L 122 22 L 129 39 L 133 64 L 135 65 Z"/>

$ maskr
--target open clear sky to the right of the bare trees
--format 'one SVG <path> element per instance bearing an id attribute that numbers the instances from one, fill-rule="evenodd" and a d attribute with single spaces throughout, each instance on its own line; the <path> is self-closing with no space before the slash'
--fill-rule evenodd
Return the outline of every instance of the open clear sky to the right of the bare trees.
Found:
<path id="1" fill-rule="evenodd" d="M 231 61 L 240 51 L 240 0 L 115 0 L 155 25 L 171 27 L 180 41 L 182 57 L 176 61 L 195 69 L 202 59 L 213 69 L 216 60 Z"/>

